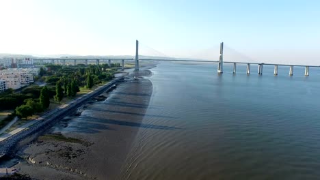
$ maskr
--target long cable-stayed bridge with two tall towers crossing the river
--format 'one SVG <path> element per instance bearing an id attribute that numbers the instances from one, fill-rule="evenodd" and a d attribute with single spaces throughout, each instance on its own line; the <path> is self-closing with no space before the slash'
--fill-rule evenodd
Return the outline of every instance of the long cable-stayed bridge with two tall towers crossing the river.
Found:
<path id="1" fill-rule="evenodd" d="M 62 65 L 66 65 L 67 62 L 70 63 L 70 61 L 73 63 L 73 65 L 77 65 L 77 63 L 84 63 L 85 65 L 88 65 L 88 62 L 94 61 L 97 65 L 99 63 L 108 63 L 111 66 L 111 61 L 121 61 L 122 70 L 124 69 L 124 61 L 134 61 L 135 62 L 135 70 L 139 70 L 139 61 L 181 61 L 181 62 L 198 62 L 198 63 L 217 63 L 217 73 L 222 74 L 224 72 L 224 63 L 231 63 L 233 65 L 232 73 L 237 73 L 237 64 L 245 64 L 246 65 L 246 73 L 251 73 L 251 65 L 258 65 L 258 74 L 263 74 L 263 66 L 264 65 L 273 65 L 274 66 L 274 75 L 278 75 L 278 66 L 287 66 L 289 67 L 289 76 L 293 76 L 293 67 L 305 67 L 304 76 L 309 76 L 309 67 L 320 67 L 319 65 L 294 65 L 294 64 L 281 64 L 281 63 L 257 63 L 254 62 L 249 57 L 246 57 L 245 55 L 242 55 L 240 52 L 237 52 L 236 50 L 233 50 L 232 48 L 228 48 L 229 52 L 235 52 L 237 54 L 238 59 L 243 59 L 246 61 L 224 61 L 224 43 L 220 43 L 219 46 L 219 54 L 216 55 L 216 57 L 219 57 L 219 60 L 207 60 L 202 58 L 195 58 L 195 57 L 189 57 L 189 58 L 174 58 L 170 57 L 168 55 L 163 54 L 162 52 L 159 52 L 158 50 L 155 50 L 153 48 L 150 48 L 148 46 L 145 46 L 149 50 L 155 52 L 156 56 L 147 57 L 147 56 L 139 56 L 139 42 L 136 40 L 135 44 L 135 57 L 133 58 L 69 58 L 69 57 L 62 57 L 62 58 L 45 58 L 45 59 L 34 59 L 34 62 L 38 62 L 40 64 L 44 63 L 61 63 Z M 212 52 L 212 51 L 209 51 Z M 201 52 L 200 55 L 204 55 L 207 52 Z M 211 56 L 212 57 L 212 56 Z M 241 58 L 239 58 L 241 57 Z"/>

